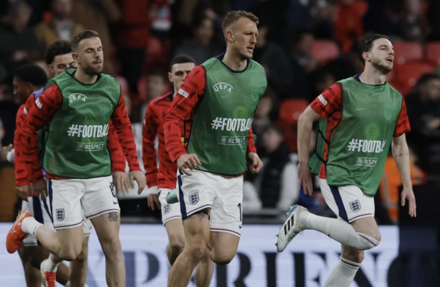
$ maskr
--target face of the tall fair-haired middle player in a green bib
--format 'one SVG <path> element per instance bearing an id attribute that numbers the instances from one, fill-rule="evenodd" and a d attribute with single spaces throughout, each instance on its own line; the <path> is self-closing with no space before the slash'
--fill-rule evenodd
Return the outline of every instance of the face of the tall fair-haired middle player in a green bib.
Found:
<path id="1" fill-rule="evenodd" d="M 259 30 L 256 23 L 252 20 L 242 17 L 232 25 L 232 45 L 239 56 L 243 59 L 250 59 L 254 54 L 256 36 Z"/>

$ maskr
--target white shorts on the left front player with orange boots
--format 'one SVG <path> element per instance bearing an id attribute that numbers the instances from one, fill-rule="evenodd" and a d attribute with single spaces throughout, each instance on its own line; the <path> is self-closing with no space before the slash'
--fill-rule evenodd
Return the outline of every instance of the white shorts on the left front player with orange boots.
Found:
<path id="1" fill-rule="evenodd" d="M 78 227 L 86 219 L 110 212 L 120 213 L 111 176 L 95 179 L 49 180 L 55 229 Z M 90 229 L 91 227 L 89 227 Z"/>

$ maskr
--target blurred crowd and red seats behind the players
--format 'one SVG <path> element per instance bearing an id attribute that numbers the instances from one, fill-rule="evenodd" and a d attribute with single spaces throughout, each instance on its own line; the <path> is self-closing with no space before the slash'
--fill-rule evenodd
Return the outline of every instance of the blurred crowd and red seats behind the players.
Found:
<path id="1" fill-rule="evenodd" d="M 333 216 L 317 184 L 312 197 L 298 192 L 296 121 L 329 85 L 362 71 L 358 41 L 369 32 L 390 36 L 395 47 L 395 67 L 387 81 L 408 105 L 412 181 L 417 186 L 437 182 L 439 0 L 2 0 L 0 144 L 12 143 L 14 135 L 18 104 L 11 72 L 33 62 L 49 74 L 44 60 L 49 45 L 70 40 L 81 30 L 96 30 L 104 46 L 104 73 L 122 84 L 142 162 L 142 119 L 148 102 L 172 89 L 168 63 L 177 54 L 188 54 L 201 64 L 224 51 L 221 23 L 230 10 L 259 16 L 254 60 L 265 67 L 269 83 L 253 122 L 265 166 L 257 176 L 245 176 L 245 222 L 279 222 L 294 203 Z M 312 138 L 311 152 L 314 144 Z M 2 163 L 3 221 L 12 220 L 19 206 L 13 174 L 13 166 Z M 399 222 L 400 185 L 390 154 L 376 196 L 381 225 Z M 416 198 L 420 190 L 415 188 Z M 159 212 L 147 208 L 144 195 L 120 195 L 120 205 L 123 220 L 159 220 Z"/>

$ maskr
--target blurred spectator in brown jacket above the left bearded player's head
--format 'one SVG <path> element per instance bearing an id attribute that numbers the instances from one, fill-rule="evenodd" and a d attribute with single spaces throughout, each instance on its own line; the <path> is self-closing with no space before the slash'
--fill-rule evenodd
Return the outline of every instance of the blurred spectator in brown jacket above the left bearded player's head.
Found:
<path id="1" fill-rule="evenodd" d="M 50 1 L 50 12 L 52 19 L 39 23 L 35 28 L 36 38 L 43 49 L 47 49 L 57 40 L 70 41 L 74 35 L 85 30 L 71 18 L 72 0 Z"/>

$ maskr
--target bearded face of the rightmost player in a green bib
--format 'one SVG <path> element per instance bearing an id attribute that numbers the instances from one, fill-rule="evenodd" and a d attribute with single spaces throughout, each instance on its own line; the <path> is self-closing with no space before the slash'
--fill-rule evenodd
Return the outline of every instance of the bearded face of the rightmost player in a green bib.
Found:
<path id="1" fill-rule="evenodd" d="M 394 48 L 387 39 L 380 38 L 374 41 L 369 54 L 371 65 L 378 71 L 387 74 L 393 69 Z"/>

